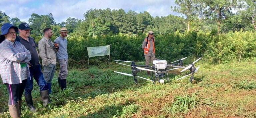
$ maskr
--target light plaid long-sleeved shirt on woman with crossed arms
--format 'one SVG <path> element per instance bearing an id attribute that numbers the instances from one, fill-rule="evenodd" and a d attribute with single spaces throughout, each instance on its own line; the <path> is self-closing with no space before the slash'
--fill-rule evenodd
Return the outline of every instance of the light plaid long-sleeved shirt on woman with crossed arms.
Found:
<path id="1" fill-rule="evenodd" d="M 18 84 L 21 81 L 20 63 L 27 64 L 27 75 L 30 78 L 28 63 L 31 59 L 30 52 L 20 43 L 5 39 L 0 44 L 0 74 L 3 83 Z"/>

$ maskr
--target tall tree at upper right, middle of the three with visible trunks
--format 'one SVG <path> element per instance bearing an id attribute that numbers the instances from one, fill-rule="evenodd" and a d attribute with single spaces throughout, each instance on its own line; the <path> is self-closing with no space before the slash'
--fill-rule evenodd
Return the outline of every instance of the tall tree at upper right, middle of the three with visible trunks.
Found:
<path id="1" fill-rule="evenodd" d="M 208 6 L 209 17 L 218 22 L 218 32 L 223 19 L 226 19 L 232 13 L 232 7 L 237 5 L 237 0 L 204 0 Z"/>

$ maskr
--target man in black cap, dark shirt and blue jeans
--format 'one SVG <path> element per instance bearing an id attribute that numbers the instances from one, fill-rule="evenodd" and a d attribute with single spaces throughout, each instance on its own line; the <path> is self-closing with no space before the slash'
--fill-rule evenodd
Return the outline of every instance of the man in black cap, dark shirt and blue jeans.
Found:
<path id="1" fill-rule="evenodd" d="M 19 25 L 19 40 L 20 43 L 25 46 L 27 50 L 31 53 L 31 60 L 29 61 L 29 70 L 30 70 L 30 76 L 31 78 L 34 77 L 37 84 L 40 87 L 40 91 L 48 91 L 48 87 L 46 86 L 46 81 L 44 80 L 44 76 L 42 73 L 41 65 L 39 63 L 39 55 L 36 50 L 37 44 L 35 40 L 30 36 L 30 30 L 33 30 L 29 27 L 27 23 L 21 23 Z M 30 108 L 30 111 L 35 112 L 36 108 L 33 105 L 32 100 L 32 92 L 33 89 L 33 79 L 27 79 L 26 82 L 26 88 L 25 88 L 25 99 L 28 107 Z M 42 97 L 42 96 L 41 96 Z"/>

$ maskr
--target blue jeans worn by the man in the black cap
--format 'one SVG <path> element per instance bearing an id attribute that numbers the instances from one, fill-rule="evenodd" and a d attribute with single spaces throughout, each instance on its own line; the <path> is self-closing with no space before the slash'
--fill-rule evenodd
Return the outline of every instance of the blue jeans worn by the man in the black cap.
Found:
<path id="1" fill-rule="evenodd" d="M 27 79 L 26 82 L 26 88 L 25 88 L 25 94 L 31 94 L 32 89 L 33 89 L 33 77 L 36 80 L 37 84 L 40 87 L 40 91 L 43 90 L 48 90 L 48 87 L 46 86 L 46 82 L 44 80 L 44 76 L 42 73 L 42 68 L 41 65 L 34 65 L 35 67 L 30 67 L 29 71 L 30 71 L 30 76 L 31 76 L 31 80 Z"/>

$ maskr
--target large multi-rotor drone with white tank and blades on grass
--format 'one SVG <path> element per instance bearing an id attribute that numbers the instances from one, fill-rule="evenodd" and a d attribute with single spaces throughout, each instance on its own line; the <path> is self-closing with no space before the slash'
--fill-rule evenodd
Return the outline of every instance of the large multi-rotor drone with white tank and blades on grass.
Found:
<path id="1" fill-rule="evenodd" d="M 136 65 L 135 63 L 145 63 L 145 62 L 135 62 L 135 61 L 125 61 L 125 60 L 115 60 L 115 61 L 121 61 L 121 62 L 131 62 L 131 65 L 127 65 L 127 64 L 123 64 L 123 63 L 119 63 L 119 62 L 116 62 L 118 64 L 122 64 L 122 65 L 126 65 L 126 66 L 130 66 L 131 69 L 132 69 L 132 74 L 128 74 L 128 73 L 123 73 L 123 72 L 118 72 L 118 71 L 114 71 L 116 73 L 119 73 L 119 74 L 123 74 L 123 75 L 128 75 L 128 76 L 133 76 L 134 78 L 134 82 L 135 83 L 138 83 L 138 80 L 136 77 L 139 77 L 139 78 L 142 78 L 142 79 L 145 79 L 145 80 L 149 80 L 149 81 L 152 81 L 154 82 L 154 84 L 157 82 L 159 83 L 164 83 L 164 78 L 165 78 L 165 73 L 167 74 L 167 81 L 170 82 L 169 80 L 169 75 L 168 75 L 168 71 L 170 70 L 175 70 L 175 69 L 179 69 L 179 68 L 183 68 L 181 70 L 181 72 L 189 69 L 190 70 L 190 73 L 183 76 L 183 77 L 180 77 L 176 80 L 180 80 L 180 79 L 183 79 L 189 75 L 191 75 L 190 77 L 190 82 L 192 82 L 194 80 L 194 73 L 196 73 L 200 67 L 200 65 L 198 65 L 197 67 L 195 67 L 195 63 L 200 60 L 201 58 L 195 60 L 194 62 L 192 62 L 191 64 L 189 65 L 185 65 L 183 66 L 183 60 L 186 59 L 185 58 L 182 58 L 182 59 L 179 59 L 179 60 L 176 60 L 176 61 L 173 61 L 171 62 L 172 64 L 167 64 L 167 61 L 166 60 L 160 60 L 160 59 L 156 59 L 156 60 L 153 60 L 153 63 L 151 63 L 152 65 Z M 176 62 L 176 63 L 174 63 Z M 143 68 L 144 67 L 144 68 Z M 168 67 L 173 67 L 172 69 L 167 69 Z M 152 75 L 151 75 L 151 79 L 147 79 L 147 78 L 144 78 L 144 77 L 140 77 L 140 76 L 137 76 L 137 73 L 141 70 L 146 70 L 146 71 L 152 71 Z M 154 76 L 153 76 L 154 75 Z"/>

